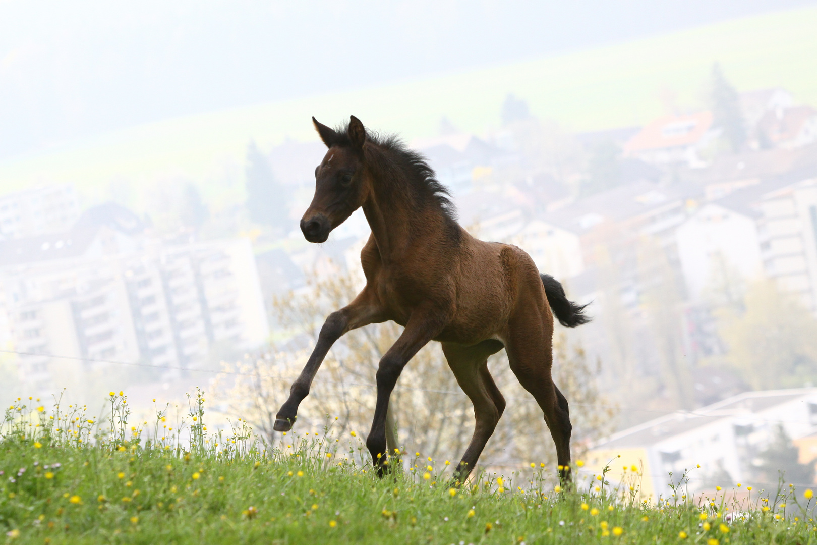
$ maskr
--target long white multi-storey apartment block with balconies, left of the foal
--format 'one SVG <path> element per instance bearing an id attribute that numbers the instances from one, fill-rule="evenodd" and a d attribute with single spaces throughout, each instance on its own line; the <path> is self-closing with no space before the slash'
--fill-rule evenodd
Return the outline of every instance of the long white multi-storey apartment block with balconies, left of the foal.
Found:
<path id="1" fill-rule="evenodd" d="M 79 225 L 0 242 L 0 337 L 23 353 L 21 382 L 54 391 L 110 361 L 195 369 L 217 343 L 266 340 L 248 239 L 167 244 L 115 221 Z"/>

